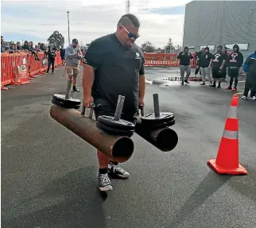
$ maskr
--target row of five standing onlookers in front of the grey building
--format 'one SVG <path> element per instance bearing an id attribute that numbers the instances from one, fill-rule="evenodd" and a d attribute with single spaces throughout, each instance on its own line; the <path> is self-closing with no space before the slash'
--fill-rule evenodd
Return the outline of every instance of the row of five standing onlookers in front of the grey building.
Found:
<path id="1" fill-rule="evenodd" d="M 206 85 L 208 78 L 210 87 L 221 87 L 221 83 L 226 81 L 226 76 L 229 75 L 229 85 L 226 90 L 237 91 L 239 83 L 239 70 L 243 65 L 243 70 L 246 72 L 246 86 L 242 99 L 247 99 L 250 91 L 250 98 L 256 100 L 256 51 L 252 53 L 246 61 L 242 52 L 239 52 L 239 45 L 235 44 L 231 53 L 227 52 L 227 48 L 219 45 L 217 52 L 212 54 L 208 47 L 202 48 L 200 52 L 196 52 L 193 56 L 189 52 L 188 47 L 184 47 L 184 51 L 180 52 L 177 58 L 180 60 L 180 77 L 181 85 L 188 82 L 188 77 L 191 75 L 190 60 L 196 58 L 196 72 L 202 75 L 202 86 Z M 186 76 L 184 77 L 184 73 Z M 218 85 L 217 85 L 218 83 Z M 234 83 L 234 87 L 233 87 Z"/>

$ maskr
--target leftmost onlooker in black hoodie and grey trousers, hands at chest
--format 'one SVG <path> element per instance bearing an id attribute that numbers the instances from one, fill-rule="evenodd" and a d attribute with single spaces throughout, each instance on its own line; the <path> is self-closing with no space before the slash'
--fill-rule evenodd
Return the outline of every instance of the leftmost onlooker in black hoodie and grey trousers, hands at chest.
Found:
<path id="1" fill-rule="evenodd" d="M 189 83 L 188 77 L 191 74 L 190 60 L 193 59 L 192 53 L 188 52 L 188 46 L 184 47 L 184 51 L 180 52 L 177 59 L 180 60 L 181 85 L 184 85 L 184 82 Z M 187 75 L 184 78 L 185 71 Z"/>

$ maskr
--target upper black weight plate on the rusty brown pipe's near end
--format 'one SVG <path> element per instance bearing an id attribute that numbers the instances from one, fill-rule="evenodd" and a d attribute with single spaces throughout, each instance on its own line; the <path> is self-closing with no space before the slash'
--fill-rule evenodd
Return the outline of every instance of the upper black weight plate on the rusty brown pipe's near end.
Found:
<path id="1" fill-rule="evenodd" d="M 121 130 L 132 130 L 135 129 L 135 125 L 132 122 L 120 119 L 119 121 L 114 121 L 114 117 L 102 115 L 97 118 L 97 121 L 105 126 L 109 126 L 114 129 Z"/>

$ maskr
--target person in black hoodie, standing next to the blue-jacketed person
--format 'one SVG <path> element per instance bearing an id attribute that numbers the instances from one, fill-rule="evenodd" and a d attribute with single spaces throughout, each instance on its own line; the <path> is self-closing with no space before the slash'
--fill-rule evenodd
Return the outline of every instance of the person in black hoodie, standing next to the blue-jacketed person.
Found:
<path id="1" fill-rule="evenodd" d="M 243 56 L 239 52 L 239 45 L 235 44 L 233 46 L 233 52 L 227 58 L 227 73 L 230 76 L 229 86 L 226 87 L 226 90 L 237 91 L 237 86 L 239 83 L 239 70 L 242 67 Z M 232 88 L 232 84 L 235 80 L 235 86 Z"/>

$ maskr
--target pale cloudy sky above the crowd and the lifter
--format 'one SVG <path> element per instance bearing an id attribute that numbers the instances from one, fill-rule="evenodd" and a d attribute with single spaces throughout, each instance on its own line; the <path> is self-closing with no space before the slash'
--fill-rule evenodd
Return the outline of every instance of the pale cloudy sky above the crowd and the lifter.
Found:
<path id="1" fill-rule="evenodd" d="M 164 47 L 169 37 L 182 45 L 184 5 L 188 0 L 131 0 L 130 13 L 141 21 L 137 43 L 151 41 Z M 70 11 L 70 36 L 83 44 L 113 33 L 118 19 L 126 13 L 124 0 L 83 1 L 1 1 L 1 34 L 6 41 L 47 41 L 55 30 L 68 42 L 67 11 Z"/>

